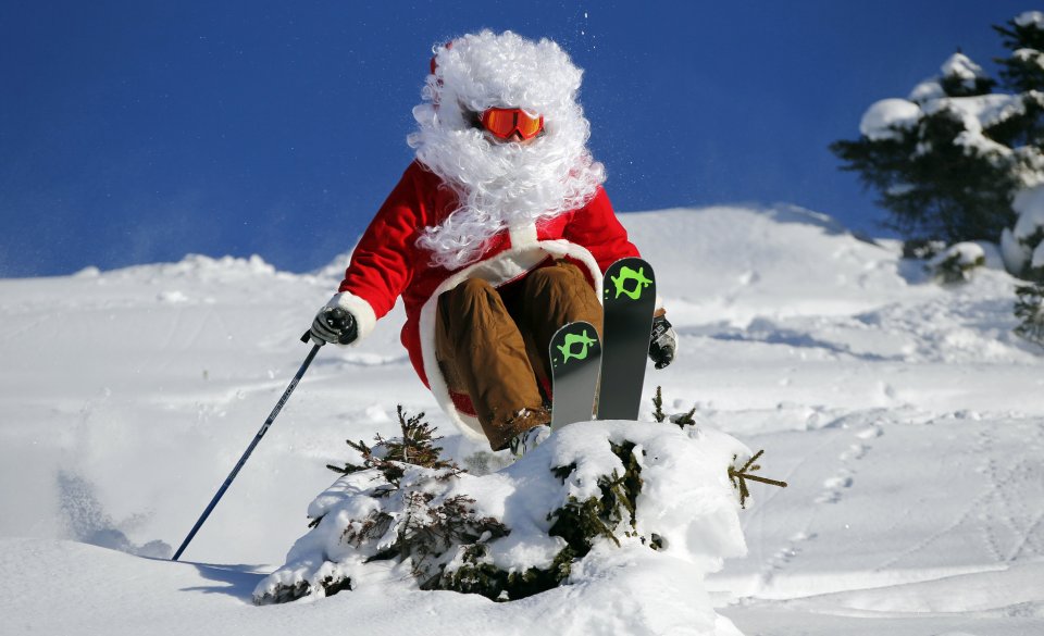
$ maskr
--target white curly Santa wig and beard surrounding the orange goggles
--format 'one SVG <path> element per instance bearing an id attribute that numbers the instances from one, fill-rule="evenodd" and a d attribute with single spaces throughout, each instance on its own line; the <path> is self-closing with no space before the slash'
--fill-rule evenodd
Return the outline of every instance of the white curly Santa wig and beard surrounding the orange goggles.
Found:
<path id="1" fill-rule="evenodd" d="M 591 125 L 576 102 L 583 71 L 557 43 L 483 30 L 434 52 L 408 142 L 457 194 L 458 209 L 418 240 L 434 264 L 453 270 L 477 260 L 499 232 L 583 207 L 606 175 L 587 150 Z M 472 123 L 492 107 L 539 113 L 545 133 L 525 145 L 497 141 Z"/>

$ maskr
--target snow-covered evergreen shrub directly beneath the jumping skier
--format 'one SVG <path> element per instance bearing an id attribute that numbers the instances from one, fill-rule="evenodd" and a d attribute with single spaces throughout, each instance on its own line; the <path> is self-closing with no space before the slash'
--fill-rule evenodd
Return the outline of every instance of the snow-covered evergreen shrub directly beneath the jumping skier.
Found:
<path id="1" fill-rule="evenodd" d="M 258 585 L 254 602 L 371 585 L 501 601 L 561 585 L 589 589 L 607 563 L 620 568 L 607 550 L 642 554 L 627 562 L 684 563 L 685 578 L 701 586 L 723 558 L 746 550 L 736 471 L 750 451 L 711 429 L 577 423 L 482 476 L 352 447 L 363 463 L 338 469 L 345 474 L 309 507 L 312 529 Z"/>

